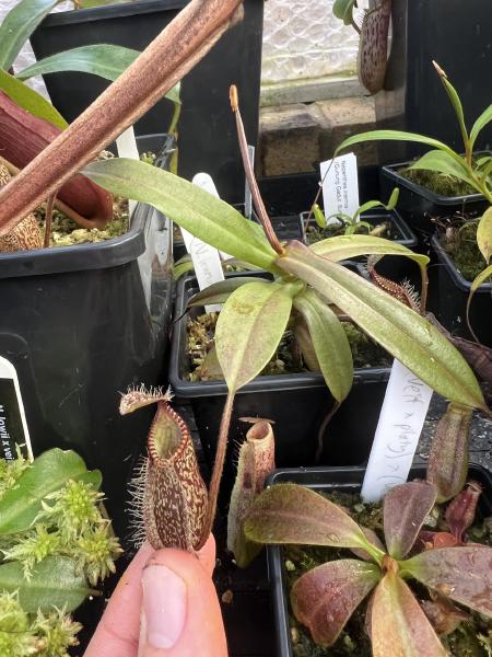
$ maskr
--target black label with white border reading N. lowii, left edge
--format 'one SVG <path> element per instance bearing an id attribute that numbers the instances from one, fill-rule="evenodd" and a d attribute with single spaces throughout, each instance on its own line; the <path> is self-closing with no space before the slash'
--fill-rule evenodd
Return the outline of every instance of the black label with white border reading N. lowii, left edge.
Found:
<path id="1" fill-rule="evenodd" d="M 0 458 L 12 461 L 20 446 L 32 461 L 31 446 L 21 388 L 14 366 L 0 356 Z"/>

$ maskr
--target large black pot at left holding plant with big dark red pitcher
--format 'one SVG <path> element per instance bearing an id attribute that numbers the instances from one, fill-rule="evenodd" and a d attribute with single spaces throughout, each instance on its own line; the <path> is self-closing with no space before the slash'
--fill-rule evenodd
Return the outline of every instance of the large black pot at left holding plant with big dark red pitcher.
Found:
<path id="1" fill-rule="evenodd" d="M 46 3 L 43 9 L 49 10 Z M 11 66 L 40 18 L 31 0 L 5 16 L 1 69 Z M 113 59 L 104 47 L 98 55 L 84 60 L 86 70 L 104 69 L 112 79 L 134 59 L 121 48 L 109 53 L 117 55 Z M 71 55 L 59 58 L 58 66 L 72 65 Z M 68 124 L 7 70 L 0 70 L 0 89 L 4 185 Z M 138 148 L 156 166 L 168 168 L 175 146 L 167 135 L 154 135 L 140 137 Z M 141 379 L 164 380 L 173 293 L 169 221 L 143 204 L 130 214 L 128 201 L 83 176 L 57 192 L 0 239 L 0 355 L 19 378 L 34 453 L 71 447 L 101 468 L 107 506 L 124 535 L 121 481 L 130 476 L 141 445 L 136 436 L 149 416 L 121 424 L 118 395 Z M 20 427 L 10 428 L 12 440 L 22 442 Z"/>

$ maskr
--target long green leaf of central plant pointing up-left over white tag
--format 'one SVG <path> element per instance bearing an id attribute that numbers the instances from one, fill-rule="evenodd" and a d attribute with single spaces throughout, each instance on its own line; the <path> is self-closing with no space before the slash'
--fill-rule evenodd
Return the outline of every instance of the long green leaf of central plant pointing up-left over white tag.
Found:
<path id="1" fill-rule="evenodd" d="M 92 162 L 82 173 L 117 196 L 154 206 L 175 223 L 224 253 L 262 269 L 272 266 L 276 269 L 276 252 L 251 221 L 177 175 L 126 158 Z"/>

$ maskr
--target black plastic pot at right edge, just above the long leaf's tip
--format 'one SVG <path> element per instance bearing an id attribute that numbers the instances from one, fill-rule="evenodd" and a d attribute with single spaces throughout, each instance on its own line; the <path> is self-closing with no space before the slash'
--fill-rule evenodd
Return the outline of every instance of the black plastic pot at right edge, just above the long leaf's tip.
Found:
<path id="1" fill-rule="evenodd" d="M 438 234 L 432 238 L 432 246 L 440 264 L 438 296 L 435 296 L 432 310 L 453 335 L 472 339 L 466 320 L 471 283 L 464 278 L 453 260 L 444 251 Z M 490 283 L 483 283 L 473 295 L 470 306 L 470 323 L 479 341 L 488 347 L 492 347 L 492 285 Z"/>

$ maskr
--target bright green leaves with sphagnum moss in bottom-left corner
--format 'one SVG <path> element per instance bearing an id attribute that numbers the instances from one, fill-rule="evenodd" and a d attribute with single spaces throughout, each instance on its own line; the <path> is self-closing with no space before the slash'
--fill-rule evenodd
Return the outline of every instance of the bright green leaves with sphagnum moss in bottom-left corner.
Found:
<path id="1" fill-rule="evenodd" d="M 101 473 L 72 451 L 0 461 L 0 654 L 62 657 L 71 620 L 121 549 L 101 510 Z"/>

